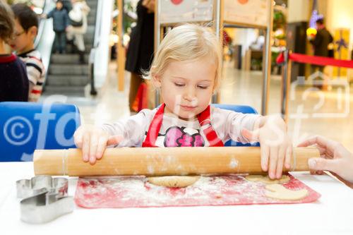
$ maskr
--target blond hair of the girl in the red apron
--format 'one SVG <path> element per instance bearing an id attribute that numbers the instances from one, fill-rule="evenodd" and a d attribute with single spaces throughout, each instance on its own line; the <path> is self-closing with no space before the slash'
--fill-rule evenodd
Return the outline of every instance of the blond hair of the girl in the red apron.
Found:
<path id="1" fill-rule="evenodd" d="M 220 42 L 210 28 L 199 25 L 184 24 L 167 33 L 158 47 L 150 71 L 143 78 L 151 79 L 161 76 L 170 61 L 189 61 L 204 57 L 215 59 L 216 74 L 214 90 L 220 83 L 222 52 Z"/>

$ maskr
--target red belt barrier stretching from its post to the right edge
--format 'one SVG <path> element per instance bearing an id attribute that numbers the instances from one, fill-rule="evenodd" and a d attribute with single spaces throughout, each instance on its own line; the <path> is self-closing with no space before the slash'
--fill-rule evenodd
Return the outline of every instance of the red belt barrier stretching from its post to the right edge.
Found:
<path id="1" fill-rule="evenodd" d="M 318 66 L 337 66 L 343 68 L 353 68 L 353 61 L 345 60 L 345 59 L 333 59 L 323 56 L 307 56 L 305 54 L 297 54 L 291 53 L 289 54 L 289 59 L 302 63 L 302 64 L 316 64 Z M 277 64 L 281 64 L 285 61 L 285 56 L 281 53 L 277 56 L 276 62 Z"/>

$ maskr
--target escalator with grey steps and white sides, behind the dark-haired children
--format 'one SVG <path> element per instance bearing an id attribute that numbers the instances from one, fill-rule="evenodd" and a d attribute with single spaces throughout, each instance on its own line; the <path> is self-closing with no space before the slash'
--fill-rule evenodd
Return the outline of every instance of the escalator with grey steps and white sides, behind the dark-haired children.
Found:
<path id="1" fill-rule="evenodd" d="M 109 6 L 112 5 L 113 0 L 86 0 L 86 2 L 90 7 L 90 13 L 88 14 L 88 30 L 84 35 L 85 64 L 79 63 L 78 54 L 52 54 L 55 37 L 52 19 L 40 18 L 35 48 L 42 55 L 42 62 L 47 71 L 40 101 L 43 101 L 49 95 L 83 97 L 85 96 L 85 90 L 90 90 L 92 95 L 95 93 L 92 92 L 95 91 L 95 83 L 92 79 L 95 72 L 103 74 L 103 77 L 105 77 L 104 74 L 107 69 L 104 66 L 107 66 L 109 57 L 109 54 L 105 51 L 108 51 L 109 47 L 107 38 L 110 33 L 110 17 L 103 17 L 111 16 L 112 9 Z M 55 1 L 53 0 L 12 0 L 9 3 L 28 4 L 38 14 L 38 17 L 42 13 L 47 14 L 55 8 Z M 104 11 L 105 13 L 103 13 Z M 107 12 L 109 13 L 107 14 Z M 102 32 L 102 27 L 104 32 Z M 69 45 L 67 45 L 66 52 L 71 51 L 68 47 Z M 97 69 L 94 70 L 94 68 Z M 96 83 L 102 83 L 102 79 L 100 78 L 98 82 L 96 80 Z"/>

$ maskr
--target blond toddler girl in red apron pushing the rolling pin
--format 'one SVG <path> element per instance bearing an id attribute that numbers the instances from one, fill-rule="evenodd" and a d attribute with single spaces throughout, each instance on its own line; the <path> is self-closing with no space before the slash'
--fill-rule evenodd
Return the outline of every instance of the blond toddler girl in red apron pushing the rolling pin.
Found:
<path id="1" fill-rule="evenodd" d="M 220 83 L 222 53 L 208 28 L 181 25 L 171 30 L 145 74 L 164 103 L 101 127 L 81 126 L 74 135 L 83 161 L 95 164 L 105 148 L 223 146 L 232 139 L 261 144 L 261 166 L 270 178 L 290 167 L 292 144 L 279 117 L 241 114 L 210 107 Z"/>

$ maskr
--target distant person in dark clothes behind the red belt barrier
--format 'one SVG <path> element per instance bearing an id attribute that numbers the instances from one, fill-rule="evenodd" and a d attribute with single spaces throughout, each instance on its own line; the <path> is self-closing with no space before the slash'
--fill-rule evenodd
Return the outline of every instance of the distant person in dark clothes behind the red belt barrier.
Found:
<path id="1" fill-rule="evenodd" d="M 313 40 L 310 40 L 310 43 L 313 44 L 313 54 L 314 56 L 324 56 L 328 57 L 328 44 L 333 42 L 333 37 L 325 28 L 323 24 L 323 19 L 316 20 L 317 33 L 316 37 Z M 314 71 L 323 72 L 324 66 L 312 66 Z"/>

